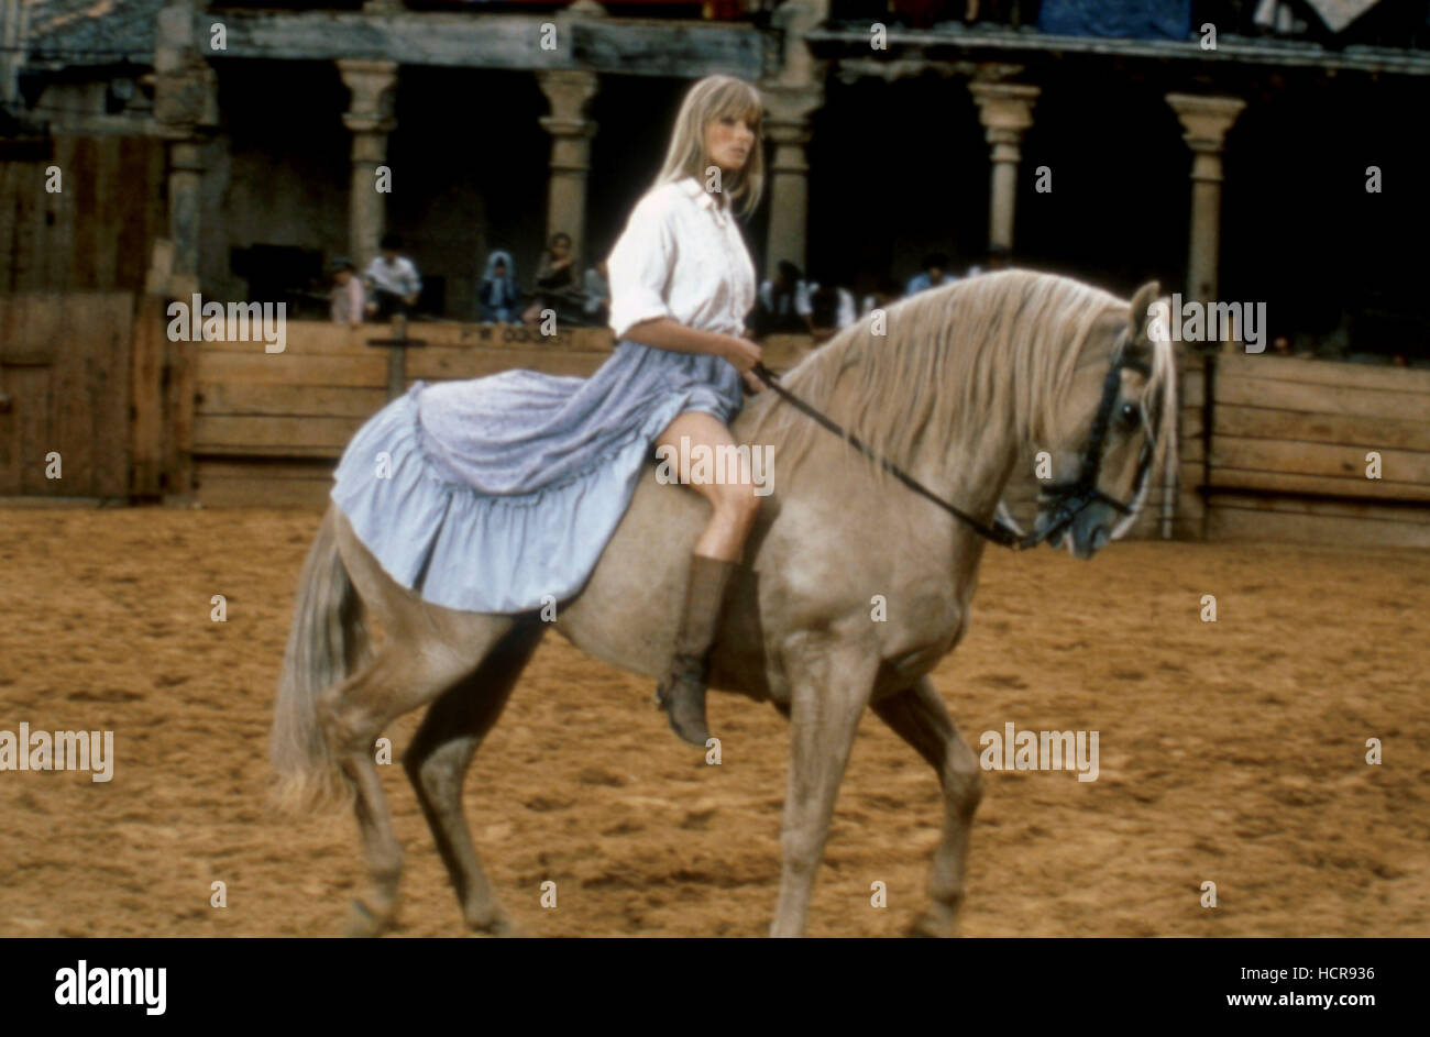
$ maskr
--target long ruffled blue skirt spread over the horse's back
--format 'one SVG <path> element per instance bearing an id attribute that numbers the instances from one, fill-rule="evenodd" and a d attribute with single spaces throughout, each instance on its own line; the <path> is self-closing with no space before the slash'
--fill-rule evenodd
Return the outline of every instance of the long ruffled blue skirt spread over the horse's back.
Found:
<path id="1" fill-rule="evenodd" d="M 586 379 L 418 382 L 347 443 L 332 499 L 426 601 L 525 612 L 582 588 L 678 415 L 728 425 L 742 402 L 728 360 L 636 342 Z"/>

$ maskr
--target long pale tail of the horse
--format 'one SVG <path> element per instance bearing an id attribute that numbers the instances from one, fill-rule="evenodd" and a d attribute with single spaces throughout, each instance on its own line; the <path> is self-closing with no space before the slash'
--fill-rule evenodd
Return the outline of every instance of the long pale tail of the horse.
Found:
<path id="1" fill-rule="evenodd" d="M 359 669 L 369 648 L 362 599 L 337 554 L 335 516 L 329 508 L 303 562 L 273 707 L 272 798 L 290 814 L 350 804 L 353 792 L 317 717 L 319 695 Z"/>

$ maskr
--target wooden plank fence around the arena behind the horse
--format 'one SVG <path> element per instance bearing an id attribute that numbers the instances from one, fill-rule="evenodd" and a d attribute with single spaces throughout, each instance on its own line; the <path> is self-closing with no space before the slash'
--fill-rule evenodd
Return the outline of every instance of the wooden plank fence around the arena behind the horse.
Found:
<path id="1" fill-rule="evenodd" d="M 167 323 L 159 295 L 0 298 L 0 496 L 323 506 L 343 446 L 388 399 L 390 349 L 369 342 L 390 329 L 290 320 L 285 350 L 267 353 L 262 342 L 174 342 Z M 611 350 L 603 329 L 548 338 L 418 323 L 408 335 L 425 345 L 405 350 L 403 386 L 511 368 L 585 376 Z M 788 369 L 811 348 L 772 339 L 766 360 Z M 51 451 L 63 481 L 44 478 Z M 1430 546 L 1427 370 L 1188 358 L 1180 458 L 1171 486 L 1153 473 L 1134 536 L 1170 528 L 1177 538 Z"/>

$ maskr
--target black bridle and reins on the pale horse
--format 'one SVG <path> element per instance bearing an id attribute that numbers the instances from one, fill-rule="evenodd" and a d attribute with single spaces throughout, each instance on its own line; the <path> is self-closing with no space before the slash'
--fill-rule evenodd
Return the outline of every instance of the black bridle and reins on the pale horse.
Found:
<path id="1" fill-rule="evenodd" d="M 967 524 L 984 539 L 1004 548 L 1024 551 L 1027 548 L 1035 548 L 1047 539 L 1060 536 L 1062 531 L 1072 525 L 1074 519 L 1077 519 L 1084 508 L 1088 508 L 1095 502 L 1105 503 L 1121 515 L 1131 515 L 1137 508 L 1138 498 L 1143 495 L 1143 488 L 1147 482 L 1147 475 L 1151 471 L 1153 456 L 1155 453 L 1155 429 L 1160 428 L 1161 422 L 1161 389 L 1157 390 L 1153 400 L 1153 418 L 1150 421 L 1148 435 L 1147 439 L 1143 441 L 1143 449 L 1137 458 L 1137 478 L 1133 482 L 1131 499 L 1127 502 L 1118 501 L 1117 498 L 1104 493 L 1097 485 L 1098 475 L 1103 468 L 1103 445 L 1107 441 L 1107 432 L 1111 428 L 1113 408 L 1117 406 L 1117 398 L 1123 388 L 1123 370 L 1135 370 L 1140 372 L 1143 378 L 1151 378 L 1151 368 L 1147 363 L 1127 355 L 1125 338 L 1118 343 L 1117 350 L 1113 355 L 1113 365 L 1108 368 L 1107 378 L 1103 380 L 1103 399 L 1097 405 L 1097 415 L 1093 418 L 1093 429 L 1088 433 L 1087 443 L 1083 446 L 1078 476 L 1071 482 L 1052 483 L 1038 493 L 1038 502 L 1041 505 L 1052 505 L 1052 515 L 1042 529 L 1035 529 L 1031 534 L 1022 534 L 998 518 L 994 518 L 990 525 L 988 522 L 970 515 L 962 508 L 958 508 L 957 505 L 952 505 L 938 496 L 938 493 L 928 489 L 928 486 L 921 483 L 892 461 L 875 453 L 852 432 L 848 432 L 841 425 L 831 421 L 828 416 L 789 392 L 775 379 L 764 363 L 756 363 L 751 369 L 751 373 L 759 378 L 775 392 L 775 395 L 792 408 L 808 415 L 817 423 L 848 442 L 849 446 L 857 449 L 865 458 L 877 463 L 915 493 L 928 498 L 950 515 Z"/>

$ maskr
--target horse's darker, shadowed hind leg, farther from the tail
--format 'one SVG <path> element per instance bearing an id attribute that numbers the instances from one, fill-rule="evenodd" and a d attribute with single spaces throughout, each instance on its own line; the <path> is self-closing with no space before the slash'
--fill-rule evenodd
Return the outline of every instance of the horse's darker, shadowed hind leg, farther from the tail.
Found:
<path id="1" fill-rule="evenodd" d="M 462 782 L 545 629 L 542 622 L 526 622 L 508 634 L 475 674 L 432 704 L 403 757 L 408 778 L 462 904 L 462 917 L 469 928 L 496 935 L 518 935 L 518 931 L 498 905 L 472 845 L 472 831 L 462 811 Z"/>

